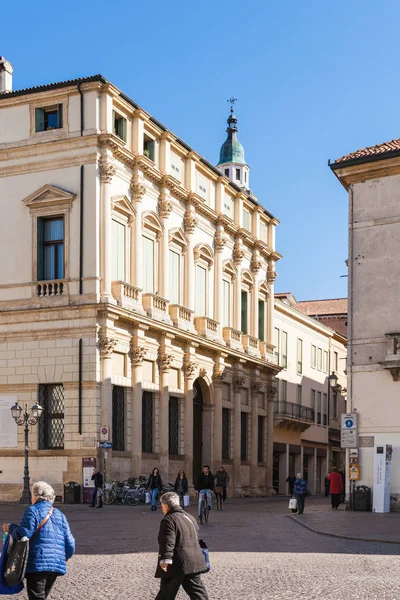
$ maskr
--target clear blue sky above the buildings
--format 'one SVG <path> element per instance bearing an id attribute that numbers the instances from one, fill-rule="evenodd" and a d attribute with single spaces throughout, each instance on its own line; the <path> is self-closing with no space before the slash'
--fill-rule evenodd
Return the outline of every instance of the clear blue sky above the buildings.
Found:
<path id="1" fill-rule="evenodd" d="M 347 295 L 328 159 L 399 137 L 398 0 L 5 2 L 14 89 L 101 73 L 210 162 L 239 99 L 251 188 L 279 220 L 277 291 Z"/>

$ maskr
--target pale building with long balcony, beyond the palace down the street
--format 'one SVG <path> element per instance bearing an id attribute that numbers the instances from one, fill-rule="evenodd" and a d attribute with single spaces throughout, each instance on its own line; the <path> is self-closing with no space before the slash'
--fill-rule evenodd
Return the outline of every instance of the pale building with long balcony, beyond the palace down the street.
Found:
<path id="1" fill-rule="evenodd" d="M 277 376 L 273 485 L 288 491 L 302 471 L 313 494 L 323 491 L 332 466 L 345 468 L 340 415 L 345 412 L 346 338 L 302 312 L 292 294 L 276 294 L 274 346 Z M 337 380 L 329 384 L 329 375 Z"/>

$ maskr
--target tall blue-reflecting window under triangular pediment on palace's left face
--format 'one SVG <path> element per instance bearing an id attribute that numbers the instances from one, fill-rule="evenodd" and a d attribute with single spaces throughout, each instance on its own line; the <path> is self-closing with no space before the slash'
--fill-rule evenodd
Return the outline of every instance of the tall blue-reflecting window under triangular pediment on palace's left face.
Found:
<path id="1" fill-rule="evenodd" d="M 64 219 L 38 219 L 38 281 L 64 278 Z"/>

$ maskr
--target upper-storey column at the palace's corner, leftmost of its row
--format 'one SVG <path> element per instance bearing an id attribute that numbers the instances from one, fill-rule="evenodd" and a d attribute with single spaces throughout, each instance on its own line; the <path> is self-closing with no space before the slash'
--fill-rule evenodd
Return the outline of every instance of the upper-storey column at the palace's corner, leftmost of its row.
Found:
<path id="1" fill-rule="evenodd" d="M 102 285 L 101 301 L 112 301 L 111 280 L 112 280 L 112 223 L 111 223 L 111 183 L 116 173 L 116 168 L 111 162 L 103 158 L 99 163 L 100 173 L 100 202 L 102 215 L 102 236 L 101 236 L 101 265 L 102 265 Z"/>

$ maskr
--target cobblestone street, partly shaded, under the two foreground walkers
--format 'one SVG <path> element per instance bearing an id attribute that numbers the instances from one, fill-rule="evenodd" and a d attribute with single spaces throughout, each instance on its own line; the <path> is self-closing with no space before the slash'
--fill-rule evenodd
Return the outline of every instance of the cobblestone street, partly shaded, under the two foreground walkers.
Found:
<path id="1" fill-rule="evenodd" d="M 333 518 L 327 500 L 307 502 L 310 514 Z M 52 600 L 154 599 L 159 511 L 62 510 L 76 537 L 77 555 L 56 583 Z M 21 512 L 18 506 L 0 506 L 0 521 L 16 520 Z M 212 571 L 204 575 L 210 600 L 400 599 L 400 546 L 318 535 L 290 518 L 286 500 L 230 501 L 222 513 L 211 512 L 201 536 L 211 552 Z M 187 596 L 181 592 L 178 598 Z"/>

